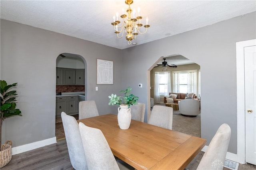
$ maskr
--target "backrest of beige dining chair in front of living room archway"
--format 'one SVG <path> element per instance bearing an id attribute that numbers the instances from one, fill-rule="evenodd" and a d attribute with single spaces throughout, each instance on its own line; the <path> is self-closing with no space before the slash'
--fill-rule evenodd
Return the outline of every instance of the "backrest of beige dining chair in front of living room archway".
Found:
<path id="1" fill-rule="evenodd" d="M 151 111 L 148 123 L 172 130 L 172 112 L 172 107 L 156 105 Z"/>

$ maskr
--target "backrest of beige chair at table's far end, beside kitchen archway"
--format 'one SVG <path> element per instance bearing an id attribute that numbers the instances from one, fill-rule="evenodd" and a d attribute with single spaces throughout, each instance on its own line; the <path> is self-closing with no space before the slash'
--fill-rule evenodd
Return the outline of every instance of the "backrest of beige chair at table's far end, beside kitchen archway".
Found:
<path id="1" fill-rule="evenodd" d="M 98 109 L 94 100 L 79 102 L 78 119 L 98 116 Z"/>

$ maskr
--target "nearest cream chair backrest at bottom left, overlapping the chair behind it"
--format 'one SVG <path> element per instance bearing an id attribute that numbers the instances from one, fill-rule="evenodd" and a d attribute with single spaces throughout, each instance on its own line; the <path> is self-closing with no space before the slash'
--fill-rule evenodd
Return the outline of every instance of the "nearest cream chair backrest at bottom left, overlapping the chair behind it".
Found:
<path id="1" fill-rule="evenodd" d="M 80 122 L 79 131 L 89 169 L 119 170 L 116 159 L 100 129 L 88 127 Z"/>

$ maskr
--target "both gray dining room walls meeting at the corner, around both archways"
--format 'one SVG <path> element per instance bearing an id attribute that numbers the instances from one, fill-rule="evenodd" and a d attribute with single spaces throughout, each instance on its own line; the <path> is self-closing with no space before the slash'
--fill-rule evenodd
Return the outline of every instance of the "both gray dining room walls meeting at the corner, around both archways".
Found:
<path id="1" fill-rule="evenodd" d="M 125 50 L 1 20 L 1 80 L 18 82 L 23 114 L 4 120 L 2 141 L 12 140 L 16 147 L 55 136 L 55 68 L 61 53 L 86 60 L 87 97 L 96 101 L 100 114 L 117 113 L 117 106 L 108 106 L 108 95 L 127 86 L 139 102 L 147 103 L 147 70 L 160 56 L 180 54 L 201 68 L 202 137 L 209 142 L 218 127 L 228 123 L 228 151 L 236 153 L 236 42 L 256 38 L 255 20 L 254 12 Z M 114 85 L 97 85 L 96 92 L 97 58 L 114 61 Z"/>

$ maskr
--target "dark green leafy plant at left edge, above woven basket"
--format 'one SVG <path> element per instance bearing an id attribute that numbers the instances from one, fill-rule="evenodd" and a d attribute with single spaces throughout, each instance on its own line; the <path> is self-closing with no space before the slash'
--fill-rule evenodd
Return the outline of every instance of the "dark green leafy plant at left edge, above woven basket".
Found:
<path id="1" fill-rule="evenodd" d="M 1 131 L 2 131 L 2 123 L 4 119 L 15 116 L 15 115 L 21 115 L 20 109 L 15 109 L 16 107 L 16 90 L 10 91 L 9 89 L 13 86 L 16 86 L 18 83 L 14 84 L 7 84 L 5 80 L 0 80 L 1 85 L 1 115 L 0 115 L 0 137 L 1 137 Z M 0 140 L 1 143 L 1 140 Z"/>

